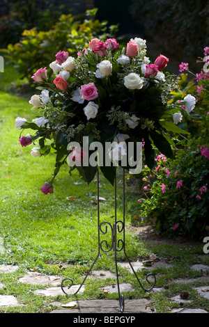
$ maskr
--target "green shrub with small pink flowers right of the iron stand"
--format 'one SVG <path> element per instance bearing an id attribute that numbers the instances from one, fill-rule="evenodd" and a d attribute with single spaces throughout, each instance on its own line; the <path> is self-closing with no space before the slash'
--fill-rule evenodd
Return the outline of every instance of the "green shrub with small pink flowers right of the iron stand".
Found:
<path id="1" fill-rule="evenodd" d="M 183 91 L 196 96 L 194 113 L 187 118 L 191 138 L 173 141 L 174 160 L 157 153 L 155 168 L 145 166 L 141 173 L 140 216 L 155 222 L 157 233 L 167 237 L 202 239 L 209 235 L 208 53 L 206 47 L 204 69 L 194 81 L 187 83 L 187 74 L 178 79 Z"/>

